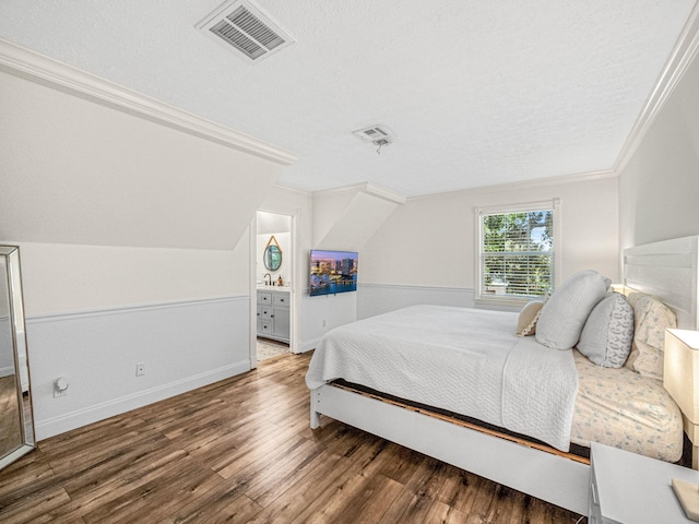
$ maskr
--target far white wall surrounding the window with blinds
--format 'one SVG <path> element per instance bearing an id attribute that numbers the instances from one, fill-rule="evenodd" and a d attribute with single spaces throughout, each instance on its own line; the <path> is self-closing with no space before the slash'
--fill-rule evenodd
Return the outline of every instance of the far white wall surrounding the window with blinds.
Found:
<path id="1" fill-rule="evenodd" d="M 419 301 L 473 306 L 475 209 L 560 199 L 561 275 L 595 269 L 617 281 L 618 180 L 614 177 L 459 191 L 399 206 L 360 257 L 358 317 Z M 420 289 L 424 293 L 420 293 Z M 459 291 L 459 293 L 457 293 Z M 457 295 L 454 295 L 457 293 Z M 380 303 L 386 306 L 381 307 Z"/>

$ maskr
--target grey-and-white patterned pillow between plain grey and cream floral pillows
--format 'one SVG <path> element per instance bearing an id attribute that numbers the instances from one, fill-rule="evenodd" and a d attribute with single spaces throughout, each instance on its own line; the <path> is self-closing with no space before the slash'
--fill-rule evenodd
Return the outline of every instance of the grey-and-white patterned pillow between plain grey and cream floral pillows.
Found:
<path id="1" fill-rule="evenodd" d="M 620 368 L 633 342 L 633 308 L 624 295 L 609 293 L 597 303 L 580 333 L 578 350 L 593 364 Z"/>

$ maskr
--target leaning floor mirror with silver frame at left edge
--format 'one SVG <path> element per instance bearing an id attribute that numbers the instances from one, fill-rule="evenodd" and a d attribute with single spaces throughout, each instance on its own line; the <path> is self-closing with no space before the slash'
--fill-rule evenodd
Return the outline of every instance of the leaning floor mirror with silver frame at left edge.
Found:
<path id="1" fill-rule="evenodd" d="M 34 446 L 20 250 L 0 246 L 0 468 Z"/>

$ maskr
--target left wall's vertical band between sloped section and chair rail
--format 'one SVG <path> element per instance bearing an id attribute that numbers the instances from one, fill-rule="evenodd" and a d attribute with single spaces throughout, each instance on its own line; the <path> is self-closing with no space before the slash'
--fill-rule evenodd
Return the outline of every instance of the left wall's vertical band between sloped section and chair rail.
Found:
<path id="1" fill-rule="evenodd" d="M 19 245 L 28 317 L 248 295 L 244 241 L 227 251 Z"/>

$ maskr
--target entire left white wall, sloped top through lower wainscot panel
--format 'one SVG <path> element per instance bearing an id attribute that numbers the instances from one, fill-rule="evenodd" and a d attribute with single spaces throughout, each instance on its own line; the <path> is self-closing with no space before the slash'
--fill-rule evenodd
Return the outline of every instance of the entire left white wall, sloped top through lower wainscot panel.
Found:
<path id="1" fill-rule="evenodd" d="M 249 226 L 282 166 L 5 70 L 0 114 L 37 438 L 250 369 Z"/>

